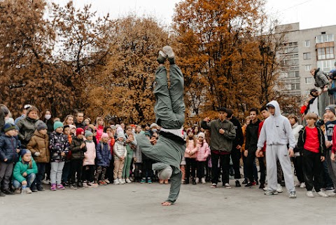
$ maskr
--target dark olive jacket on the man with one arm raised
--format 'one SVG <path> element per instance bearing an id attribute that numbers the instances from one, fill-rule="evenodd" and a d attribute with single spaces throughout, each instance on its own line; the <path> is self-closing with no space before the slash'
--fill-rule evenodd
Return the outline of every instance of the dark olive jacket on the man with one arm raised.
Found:
<path id="1" fill-rule="evenodd" d="M 211 132 L 211 150 L 231 152 L 232 141 L 236 137 L 235 125 L 233 123 L 228 120 L 221 121 L 220 119 L 216 119 L 209 123 L 202 121 L 201 127 Z M 223 135 L 218 132 L 220 129 L 225 130 Z"/>

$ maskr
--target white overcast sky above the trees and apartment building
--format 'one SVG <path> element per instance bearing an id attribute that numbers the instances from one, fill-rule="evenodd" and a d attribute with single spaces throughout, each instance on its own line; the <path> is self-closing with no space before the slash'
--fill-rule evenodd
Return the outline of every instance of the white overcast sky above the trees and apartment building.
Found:
<path id="1" fill-rule="evenodd" d="M 47 0 L 65 4 L 68 0 Z M 174 7 L 181 0 L 73 0 L 76 7 L 92 4 L 98 15 L 110 13 L 118 18 L 129 13 L 152 15 L 167 24 L 172 22 Z M 281 24 L 300 22 L 300 29 L 336 25 L 336 0 L 266 0 L 267 12 Z"/>

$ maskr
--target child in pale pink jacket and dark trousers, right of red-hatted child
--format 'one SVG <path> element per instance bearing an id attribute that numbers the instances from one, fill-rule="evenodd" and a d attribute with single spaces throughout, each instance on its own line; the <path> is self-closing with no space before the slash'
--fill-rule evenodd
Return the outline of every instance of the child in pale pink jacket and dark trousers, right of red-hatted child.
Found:
<path id="1" fill-rule="evenodd" d="M 97 187 L 94 183 L 94 159 L 96 158 L 96 145 L 93 142 L 93 134 L 91 131 L 85 131 L 85 144 L 86 149 L 83 159 L 83 186 L 84 187 Z"/>

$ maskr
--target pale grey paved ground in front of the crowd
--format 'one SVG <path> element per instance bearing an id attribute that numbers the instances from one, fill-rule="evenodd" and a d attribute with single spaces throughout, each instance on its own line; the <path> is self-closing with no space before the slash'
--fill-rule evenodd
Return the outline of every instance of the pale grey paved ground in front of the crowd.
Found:
<path id="1" fill-rule="evenodd" d="M 234 180 L 230 180 L 233 184 Z M 160 203 L 170 185 L 124 184 L 0 198 L 0 225 L 67 224 L 336 224 L 336 198 L 265 196 L 258 186 L 183 185 L 170 207 Z M 47 186 L 45 186 L 47 187 Z"/>

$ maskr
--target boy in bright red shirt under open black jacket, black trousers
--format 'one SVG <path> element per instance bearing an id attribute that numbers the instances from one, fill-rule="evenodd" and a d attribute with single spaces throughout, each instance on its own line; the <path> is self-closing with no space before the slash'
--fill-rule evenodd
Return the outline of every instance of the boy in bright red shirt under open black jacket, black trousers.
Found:
<path id="1" fill-rule="evenodd" d="M 297 148 L 302 153 L 304 184 L 307 189 L 307 196 L 314 198 L 312 192 L 313 186 L 321 197 L 328 197 L 326 193 L 321 191 L 323 184 L 323 165 L 325 160 L 325 139 L 323 131 L 315 126 L 317 115 L 308 113 L 305 116 L 307 125 L 300 130 L 300 137 Z"/>

